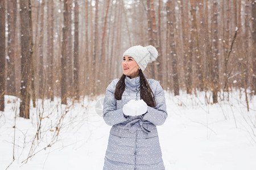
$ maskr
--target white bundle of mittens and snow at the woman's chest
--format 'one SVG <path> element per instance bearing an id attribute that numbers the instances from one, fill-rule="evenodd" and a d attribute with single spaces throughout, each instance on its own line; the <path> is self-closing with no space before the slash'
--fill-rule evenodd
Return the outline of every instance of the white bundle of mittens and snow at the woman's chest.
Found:
<path id="1" fill-rule="evenodd" d="M 139 116 L 147 112 L 147 104 L 144 100 L 130 100 L 123 105 L 123 114 L 126 116 Z"/>

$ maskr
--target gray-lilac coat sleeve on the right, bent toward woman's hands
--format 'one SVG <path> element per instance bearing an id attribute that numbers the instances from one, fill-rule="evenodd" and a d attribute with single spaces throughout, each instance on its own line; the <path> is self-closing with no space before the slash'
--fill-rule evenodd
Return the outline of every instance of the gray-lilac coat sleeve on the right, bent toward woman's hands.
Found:
<path id="1" fill-rule="evenodd" d="M 143 120 L 150 121 L 154 125 L 163 125 L 167 118 L 166 98 L 164 91 L 159 82 L 156 85 L 154 108 L 147 106 L 147 112 L 143 114 Z"/>

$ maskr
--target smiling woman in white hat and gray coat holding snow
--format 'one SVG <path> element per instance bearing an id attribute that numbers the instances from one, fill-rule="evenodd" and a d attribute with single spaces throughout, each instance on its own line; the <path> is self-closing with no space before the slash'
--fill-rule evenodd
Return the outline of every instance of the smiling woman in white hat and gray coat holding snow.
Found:
<path id="1" fill-rule="evenodd" d="M 151 45 L 127 49 L 123 53 L 123 75 L 106 88 L 103 115 L 112 129 L 105 170 L 164 169 L 156 130 L 167 118 L 164 91 L 158 81 L 143 74 L 147 63 L 157 57 Z"/>

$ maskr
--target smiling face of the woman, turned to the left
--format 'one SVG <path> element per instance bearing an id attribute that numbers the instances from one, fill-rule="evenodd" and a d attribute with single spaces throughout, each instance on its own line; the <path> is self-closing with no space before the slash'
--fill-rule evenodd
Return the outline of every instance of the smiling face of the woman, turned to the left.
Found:
<path id="1" fill-rule="evenodd" d="M 139 75 L 139 65 L 130 56 L 124 56 L 122 62 L 123 74 L 130 76 L 130 78 L 135 78 Z"/>

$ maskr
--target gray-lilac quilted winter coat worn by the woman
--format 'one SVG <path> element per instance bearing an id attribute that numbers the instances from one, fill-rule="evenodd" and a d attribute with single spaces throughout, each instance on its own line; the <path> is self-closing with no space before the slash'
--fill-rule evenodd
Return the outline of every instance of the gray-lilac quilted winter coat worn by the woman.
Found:
<path id="1" fill-rule="evenodd" d="M 158 81 L 147 79 L 154 93 L 156 106 L 148 106 L 147 112 L 142 116 L 125 116 L 122 112 L 123 105 L 131 99 L 141 99 L 139 76 L 133 79 L 126 76 L 122 100 L 114 98 L 118 80 L 112 80 L 106 88 L 104 99 L 104 120 L 112 129 L 103 169 L 164 169 L 156 129 L 156 126 L 162 125 L 167 118 L 163 88 Z"/>

